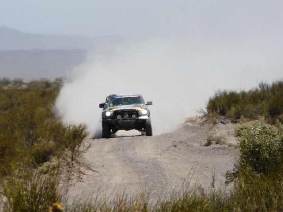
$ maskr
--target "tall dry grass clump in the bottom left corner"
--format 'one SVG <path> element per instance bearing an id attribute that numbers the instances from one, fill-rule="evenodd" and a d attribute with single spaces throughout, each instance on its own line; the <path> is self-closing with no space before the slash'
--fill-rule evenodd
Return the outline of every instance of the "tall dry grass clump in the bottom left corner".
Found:
<path id="1" fill-rule="evenodd" d="M 4 195 L 5 211 L 43 212 L 62 200 L 56 172 L 21 172 L 20 177 L 15 175 L 4 183 Z"/>

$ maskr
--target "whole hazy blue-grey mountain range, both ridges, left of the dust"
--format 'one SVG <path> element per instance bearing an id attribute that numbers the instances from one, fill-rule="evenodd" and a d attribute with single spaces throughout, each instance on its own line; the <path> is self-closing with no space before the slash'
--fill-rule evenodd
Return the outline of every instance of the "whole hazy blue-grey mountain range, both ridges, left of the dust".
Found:
<path id="1" fill-rule="evenodd" d="M 82 63 L 89 50 L 99 54 L 121 37 L 83 37 L 25 33 L 0 27 L 0 78 L 56 78 Z"/>

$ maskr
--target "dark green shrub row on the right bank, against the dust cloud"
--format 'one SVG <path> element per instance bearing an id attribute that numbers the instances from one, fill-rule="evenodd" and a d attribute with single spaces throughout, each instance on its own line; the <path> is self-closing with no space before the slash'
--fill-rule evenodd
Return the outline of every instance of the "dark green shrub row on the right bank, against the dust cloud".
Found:
<path id="1" fill-rule="evenodd" d="M 207 104 L 208 114 L 216 113 L 238 122 L 264 116 L 269 123 L 283 122 L 283 80 L 260 83 L 249 91 L 217 91 Z"/>

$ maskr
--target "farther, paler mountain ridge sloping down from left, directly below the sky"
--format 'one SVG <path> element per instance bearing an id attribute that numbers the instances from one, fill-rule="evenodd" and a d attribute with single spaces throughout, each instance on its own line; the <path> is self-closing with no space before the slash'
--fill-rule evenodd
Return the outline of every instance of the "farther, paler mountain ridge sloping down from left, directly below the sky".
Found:
<path id="1" fill-rule="evenodd" d="M 14 49 L 99 49 L 123 42 L 122 37 L 65 36 L 25 33 L 5 26 L 0 27 L 0 50 Z"/>

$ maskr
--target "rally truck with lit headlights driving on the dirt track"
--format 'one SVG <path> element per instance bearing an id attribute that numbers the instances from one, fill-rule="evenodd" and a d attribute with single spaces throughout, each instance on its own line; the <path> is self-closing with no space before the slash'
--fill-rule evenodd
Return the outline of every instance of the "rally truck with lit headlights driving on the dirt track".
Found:
<path id="1" fill-rule="evenodd" d="M 146 136 L 152 136 L 150 110 L 140 94 L 112 94 L 105 103 L 99 104 L 102 111 L 102 138 L 110 138 L 118 130 L 136 129 Z"/>

